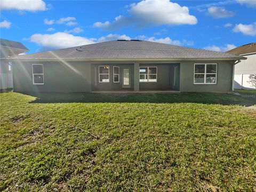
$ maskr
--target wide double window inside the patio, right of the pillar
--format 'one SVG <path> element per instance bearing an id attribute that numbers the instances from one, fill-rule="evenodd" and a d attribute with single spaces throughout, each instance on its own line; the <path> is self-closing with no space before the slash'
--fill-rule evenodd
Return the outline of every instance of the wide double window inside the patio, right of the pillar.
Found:
<path id="1" fill-rule="evenodd" d="M 157 82 L 157 67 L 140 67 L 140 82 Z"/>

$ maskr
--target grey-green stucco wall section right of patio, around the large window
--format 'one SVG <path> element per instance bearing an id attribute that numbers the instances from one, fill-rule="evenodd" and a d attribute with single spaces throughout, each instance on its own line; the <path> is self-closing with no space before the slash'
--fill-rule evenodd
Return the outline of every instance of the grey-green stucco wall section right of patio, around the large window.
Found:
<path id="1" fill-rule="evenodd" d="M 217 84 L 194 84 L 194 63 L 217 63 Z M 234 61 L 182 61 L 180 63 L 181 92 L 231 92 Z"/>

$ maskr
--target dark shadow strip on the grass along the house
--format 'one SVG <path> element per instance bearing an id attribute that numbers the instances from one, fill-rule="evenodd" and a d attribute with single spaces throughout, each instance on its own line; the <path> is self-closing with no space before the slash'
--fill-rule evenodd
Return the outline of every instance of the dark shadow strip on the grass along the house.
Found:
<path id="1" fill-rule="evenodd" d="M 221 93 L 26 93 L 36 97 L 31 103 L 207 103 L 222 105 L 256 105 L 256 99 L 248 100 L 235 94 Z"/>

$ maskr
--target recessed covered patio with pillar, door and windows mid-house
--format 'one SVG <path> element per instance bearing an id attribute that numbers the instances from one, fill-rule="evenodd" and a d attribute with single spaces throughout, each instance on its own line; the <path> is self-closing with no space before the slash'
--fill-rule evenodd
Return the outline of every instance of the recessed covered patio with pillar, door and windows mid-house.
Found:
<path id="1" fill-rule="evenodd" d="M 91 82 L 92 92 L 179 92 L 180 63 L 92 63 Z"/>

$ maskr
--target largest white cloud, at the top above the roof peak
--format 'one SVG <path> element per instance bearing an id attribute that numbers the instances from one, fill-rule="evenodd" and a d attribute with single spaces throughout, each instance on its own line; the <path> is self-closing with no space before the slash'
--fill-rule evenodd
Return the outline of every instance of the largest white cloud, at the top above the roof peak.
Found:
<path id="1" fill-rule="evenodd" d="M 129 17 L 119 15 L 113 22 L 95 22 L 94 27 L 113 30 L 123 26 L 134 24 L 137 27 L 149 25 L 195 25 L 197 19 L 189 14 L 188 7 L 180 6 L 169 0 L 143 0 L 130 5 Z"/>

